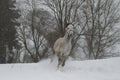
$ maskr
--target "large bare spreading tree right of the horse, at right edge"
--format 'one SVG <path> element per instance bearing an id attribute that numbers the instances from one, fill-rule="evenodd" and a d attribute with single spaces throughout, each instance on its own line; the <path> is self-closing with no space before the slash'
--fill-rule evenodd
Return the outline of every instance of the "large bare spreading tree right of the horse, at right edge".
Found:
<path id="1" fill-rule="evenodd" d="M 106 49 L 119 40 L 119 31 L 115 28 L 120 20 L 119 4 L 114 0 L 86 0 L 84 13 L 88 21 L 83 49 L 89 58 L 103 57 Z"/>

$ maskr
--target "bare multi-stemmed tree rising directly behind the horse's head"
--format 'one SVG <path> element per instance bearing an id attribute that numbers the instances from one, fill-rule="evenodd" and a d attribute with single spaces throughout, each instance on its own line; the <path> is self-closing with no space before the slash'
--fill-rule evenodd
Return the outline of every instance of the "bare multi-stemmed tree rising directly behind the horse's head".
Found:
<path id="1" fill-rule="evenodd" d="M 78 9 L 84 0 L 46 0 L 46 5 L 53 11 L 57 21 L 57 30 L 62 36 L 68 23 L 76 21 Z"/>

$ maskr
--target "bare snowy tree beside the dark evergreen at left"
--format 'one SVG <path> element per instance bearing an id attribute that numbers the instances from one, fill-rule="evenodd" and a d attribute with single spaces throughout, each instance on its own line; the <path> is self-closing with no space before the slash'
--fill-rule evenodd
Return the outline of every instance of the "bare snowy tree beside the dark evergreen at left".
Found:
<path id="1" fill-rule="evenodd" d="M 45 39 L 46 25 L 50 20 L 50 13 L 44 9 L 38 10 L 36 2 L 27 1 L 31 9 L 27 15 L 23 15 L 22 25 L 19 27 L 19 39 L 24 45 L 25 50 L 29 53 L 33 62 L 38 62 L 48 50 L 47 41 Z"/>

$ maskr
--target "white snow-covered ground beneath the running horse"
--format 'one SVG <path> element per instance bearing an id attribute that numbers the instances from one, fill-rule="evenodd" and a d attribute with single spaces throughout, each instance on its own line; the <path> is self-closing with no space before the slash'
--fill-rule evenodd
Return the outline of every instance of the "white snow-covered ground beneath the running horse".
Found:
<path id="1" fill-rule="evenodd" d="M 120 80 L 120 57 L 68 60 L 63 71 L 49 59 L 32 64 L 0 64 L 0 80 Z"/>

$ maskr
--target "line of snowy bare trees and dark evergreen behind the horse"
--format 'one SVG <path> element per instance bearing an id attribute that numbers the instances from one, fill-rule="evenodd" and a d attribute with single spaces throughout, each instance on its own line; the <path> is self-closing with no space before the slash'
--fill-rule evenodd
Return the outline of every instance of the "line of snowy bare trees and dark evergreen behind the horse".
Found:
<path id="1" fill-rule="evenodd" d="M 0 63 L 38 62 L 52 56 L 53 44 L 68 23 L 76 30 L 70 55 L 74 58 L 113 56 L 110 49 L 120 39 L 116 27 L 120 1 L 1 0 L 0 4 Z"/>

